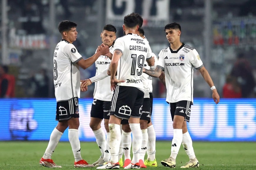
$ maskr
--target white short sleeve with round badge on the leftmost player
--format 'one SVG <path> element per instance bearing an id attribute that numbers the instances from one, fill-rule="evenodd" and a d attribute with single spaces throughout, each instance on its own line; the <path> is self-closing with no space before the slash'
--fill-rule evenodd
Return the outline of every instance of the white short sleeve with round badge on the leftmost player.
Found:
<path id="1" fill-rule="evenodd" d="M 77 63 L 82 60 L 82 55 L 79 54 L 77 48 L 73 44 L 67 44 L 63 49 L 64 54 L 69 56 L 72 63 Z"/>

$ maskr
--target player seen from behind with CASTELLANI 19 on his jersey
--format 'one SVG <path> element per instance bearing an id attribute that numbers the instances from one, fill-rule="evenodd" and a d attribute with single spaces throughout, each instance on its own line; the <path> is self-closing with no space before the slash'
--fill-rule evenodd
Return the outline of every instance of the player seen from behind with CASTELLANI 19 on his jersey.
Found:
<path id="1" fill-rule="evenodd" d="M 140 168 L 142 133 L 139 119 L 144 96 L 142 71 L 144 60 L 147 60 L 151 66 L 154 64 L 154 59 L 151 57 L 152 51 L 148 43 L 144 43 L 144 39 L 136 34 L 138 28 L 138 19 L 135 15 L 125 16 L 123 25 L 125 36 L 115 41 L 114 54 L 110 63 L 111 89 L 114 90 L 109 118 L 111 158 L 109 163 L 97 169 L 119 169 L 118 151 L 121 143 L 122 119 L 129 120 L 133 136 L 133 158 L 131 164 L 125 169 Z M 122 80 L 125 82 L 120 82 Z"/>

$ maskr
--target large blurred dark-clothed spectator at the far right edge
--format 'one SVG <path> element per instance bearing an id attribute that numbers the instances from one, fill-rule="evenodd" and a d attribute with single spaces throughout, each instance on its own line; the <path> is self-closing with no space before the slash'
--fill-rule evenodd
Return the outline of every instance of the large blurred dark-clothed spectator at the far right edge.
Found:
<path id="1" fill-rule="evenodd" d="M 247 58 L 250 59 L 250 57 Z M 255 86 L 253 70 L 247 58 L 245 58 L 244 53 L 240 53 L 231 71 L 231 76 L 236 77 L 240 84 L 242 98 L 252 97 Z"/>

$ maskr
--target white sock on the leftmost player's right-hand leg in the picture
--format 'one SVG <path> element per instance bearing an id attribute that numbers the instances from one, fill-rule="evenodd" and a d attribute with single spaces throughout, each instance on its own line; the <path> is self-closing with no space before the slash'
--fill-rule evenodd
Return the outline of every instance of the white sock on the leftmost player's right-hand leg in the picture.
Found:
<path id="1" fill-rule="evenodd" d="M 82 160 L 78 129 L 69 129 L 69 142 L 72 147 L 75 162 Z"/>

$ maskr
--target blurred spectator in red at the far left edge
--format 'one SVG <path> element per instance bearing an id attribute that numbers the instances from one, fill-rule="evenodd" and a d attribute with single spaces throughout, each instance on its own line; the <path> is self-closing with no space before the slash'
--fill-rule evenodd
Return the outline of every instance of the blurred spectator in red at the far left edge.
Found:
<path id="1" fill-rule="evenodd" d="M 1 98 L 14 97 L 15 77 L 8 74 L 7 66 L 0 66 L 0 96 Z"/>

